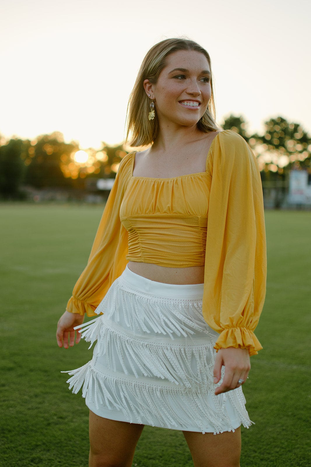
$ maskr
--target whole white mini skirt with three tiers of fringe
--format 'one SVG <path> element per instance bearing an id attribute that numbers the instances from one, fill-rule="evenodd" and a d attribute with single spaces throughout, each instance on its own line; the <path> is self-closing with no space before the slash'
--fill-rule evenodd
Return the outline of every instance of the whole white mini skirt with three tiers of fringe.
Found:
<path id="1" fill-rule="evenodd" d="M 96 313 L 77 326 L 93 358 L 66 371 L 100 417 L 175 430 L 221 433 L 251 425 L 242 388 L 215 396 L 218 333 L 202 317 L 203 284 L 154 282 L 124 272 Z M 218 383 L 220 385 L 221 382 Z"/>

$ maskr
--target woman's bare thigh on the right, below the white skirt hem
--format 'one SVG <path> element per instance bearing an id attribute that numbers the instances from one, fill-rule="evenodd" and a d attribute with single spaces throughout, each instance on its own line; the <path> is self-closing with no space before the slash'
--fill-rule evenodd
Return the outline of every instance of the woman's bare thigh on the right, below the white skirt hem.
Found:
<path id="1" fill-rule="evenodd" d="M 183 432 L 194 467 L 240 467 L 241 428 L 235 432 Z"/>

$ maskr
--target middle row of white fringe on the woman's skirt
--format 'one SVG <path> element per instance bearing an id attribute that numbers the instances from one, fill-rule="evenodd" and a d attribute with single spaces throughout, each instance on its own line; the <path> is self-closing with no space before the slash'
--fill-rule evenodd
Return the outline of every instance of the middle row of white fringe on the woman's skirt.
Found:
<path id="1" fill-rule="evenodd" d="M 214 362 L 206 361 L 209 353 L 213 355 L 212 345 L 202 340 L 200 344 L 185 345 L 184 342 L 168 342 L 168 339 L 140 339 L 115 329 L 109 322 L 104 323 L 97 342 L 97 356 L 106 356 L 108 369 L 119 371 L 121 366 L 125 375 L 136 378 L 157 376 L 188 388 L 196 383 L 213 390 Z"/>

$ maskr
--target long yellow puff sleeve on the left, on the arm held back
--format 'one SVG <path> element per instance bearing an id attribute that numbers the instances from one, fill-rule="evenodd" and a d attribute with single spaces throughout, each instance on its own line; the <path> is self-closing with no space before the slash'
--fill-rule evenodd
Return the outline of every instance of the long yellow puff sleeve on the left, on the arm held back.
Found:
<path id="1" fill-rule="evenodd" d="M 120 221 L 120 205 L 131 177 L 132 153 L 122 159 L 100 221 L 86 268 L 76 282 L 66 310 L 94 316 L 107 290 L 125 269 L 128 233 Z"/>

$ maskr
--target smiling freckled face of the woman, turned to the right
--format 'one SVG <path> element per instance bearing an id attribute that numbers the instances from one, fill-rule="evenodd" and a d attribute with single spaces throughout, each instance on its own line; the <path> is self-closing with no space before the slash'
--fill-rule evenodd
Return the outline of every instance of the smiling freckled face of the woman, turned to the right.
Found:
<path id="1" fill-rule="evenodd" d="M 196 125 L 211 97 L 207 58 L 194 50 L 174 52 L 166 58 L 166 67 L 156 85 L 148 80 L 144 85 L 147 95 L 153 97 L 160 125 Z"/>

